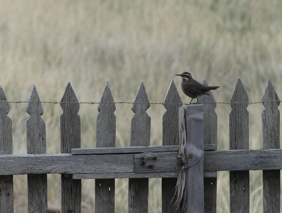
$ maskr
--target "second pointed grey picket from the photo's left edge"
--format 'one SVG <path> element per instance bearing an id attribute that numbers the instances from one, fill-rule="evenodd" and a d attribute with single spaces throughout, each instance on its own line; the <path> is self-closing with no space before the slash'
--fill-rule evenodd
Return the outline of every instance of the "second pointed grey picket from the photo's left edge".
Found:
<path id="1" fill-rule="evenodd" d="M 36 87 L 33 84 L 28 98 L 27 119 L 27 154 L 46 153 L 46 128 L 41 118 L 43 106 Z M 47 212 L 47 174 L 27 175 L 28 212 Z"/>

